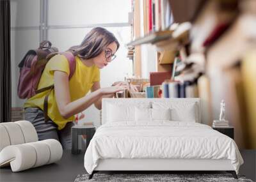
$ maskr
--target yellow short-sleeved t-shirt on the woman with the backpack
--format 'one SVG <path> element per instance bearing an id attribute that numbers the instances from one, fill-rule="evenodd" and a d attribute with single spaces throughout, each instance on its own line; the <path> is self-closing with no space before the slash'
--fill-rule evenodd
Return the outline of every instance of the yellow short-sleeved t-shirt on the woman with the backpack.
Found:
<path id="1" fill-rule="evenodd" d="M 38 89 L 54 84 L 54 71 L 56 70 L 66 72 L 69 75 L 69 64 L 65 56 L 58 54 L 49 60 L 42 73 Z M 86 95 L 92 88 L 93 83 L 98 82 L 99 80 L 99 68 L 95 65 L 91 67 L 84 65 L 81 59 L 76 56 L 76 70 L 69 80 L 71 102 Z M 24 104 L 24 107 L 40 107 L 40 109 L 44 110 L 44 98 L 47 93 L 49 93 L 49 90 L 29 98 Z M 64 128 L 67 122 L 74 121 L 74 116 L 68 119 L 64 119 L 61 116 L 54 96 L 54 89 L 51 91 L 48 98 L 48 116 L 54 123 L 56 123 L 56 125 L 58 125 L 58 130 Z"/>

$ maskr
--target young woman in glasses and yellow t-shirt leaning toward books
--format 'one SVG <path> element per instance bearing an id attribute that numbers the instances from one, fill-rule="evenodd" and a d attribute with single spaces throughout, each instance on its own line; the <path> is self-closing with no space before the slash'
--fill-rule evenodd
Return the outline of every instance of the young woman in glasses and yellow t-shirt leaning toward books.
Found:
<path id="1" fill-rule="evenodd" d="M 100 88 L 99 69 L 115 59 L 119 43 L 115 36 L 102 27 L 95 27 L 86 34 L 80 45 L 68 51 L 76 57 L 76 70 L 71 79 L 68 60 L 58 54 L 46 64 L 38 89 L 54 84 L 49 93 L 44 91 L 29 98 L 24 104 L 25 119 L 30 121 L 38 133 L 39 140 L 60 140 L 65 149 L 71 148 L 71 127 L 74 115 L 87 109 L 94 103 L 101 109 L 102 97 L 113 97 L 117 91 L 127 86 L 122 83 Z M 87 94 L 88 91 L 92 91 Z M 49 93 L 47 116 L 44 118 L 44 98 Z M 87 94 L 87 95 L 86 95 Z"/>

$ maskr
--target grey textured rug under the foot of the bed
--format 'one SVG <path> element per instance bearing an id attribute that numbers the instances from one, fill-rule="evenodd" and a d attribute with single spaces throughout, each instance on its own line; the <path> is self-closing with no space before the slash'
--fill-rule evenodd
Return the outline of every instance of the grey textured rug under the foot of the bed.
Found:
<path id="1" fill-rule="evenodd" d="M 94 174 L 92 179 L 88 179 L 89 174 L 79 174 L 75 182 L 86 181 L 136 181 L 136 182 L 149 182 L 149 181 L 172 181 L 172 182 L 187 182 L 187 181 L 243 181 L 253 182 L 251 179 L 246 179 L 244 176 L 238 176 L 239 179 L 234 179 L 232 174 Z"/>

